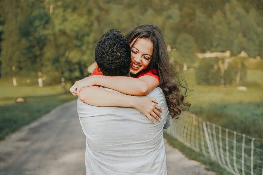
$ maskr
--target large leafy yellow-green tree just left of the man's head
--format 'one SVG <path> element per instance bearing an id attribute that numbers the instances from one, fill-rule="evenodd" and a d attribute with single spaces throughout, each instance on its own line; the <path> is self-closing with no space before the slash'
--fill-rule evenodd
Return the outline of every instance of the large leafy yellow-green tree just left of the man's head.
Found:
<path id="1" fill-rule="evenodd" d="M 48 45 L 45 47 L 45 59 L 53 62 L 53 67 L 46 67 L 47 72 L 56 72 L 49 76 L 49 81 L 58 82 L 62 78 L 75 83 L 87 76 L 87 67 L 94 62 L 94 49 L 97 42 L 100 12 L 96 1 L 46 1 L 49 7 L 51 24 Z M 52 8 L 52 10 L 51 10 Z M 99 7 L 100 8 L 100 7 Z M 98 14 L 97 14 L 98 12 Z M 99 32 L 97 32 L 99 31 Z"/>

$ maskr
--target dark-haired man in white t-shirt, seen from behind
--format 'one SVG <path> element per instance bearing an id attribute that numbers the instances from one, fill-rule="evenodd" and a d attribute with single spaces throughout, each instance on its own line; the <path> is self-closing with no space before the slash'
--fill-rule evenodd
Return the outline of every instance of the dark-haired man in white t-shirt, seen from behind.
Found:
<path id="1" fill-rule="evenodd" d="M 130 47 L 119 31 L 103 34 L 95 57 L 96 69 L 103 75 L 129 76 Z M 162 129 L 171 124 L 169 110 L 159 87 L 147 96 L 154 97 L 162 108 L 160 122 L 152 124 L 134 108 L 91 106 L 78 99 L 79 120 L 86 136 L 87 175 L 167 174 Z"/>

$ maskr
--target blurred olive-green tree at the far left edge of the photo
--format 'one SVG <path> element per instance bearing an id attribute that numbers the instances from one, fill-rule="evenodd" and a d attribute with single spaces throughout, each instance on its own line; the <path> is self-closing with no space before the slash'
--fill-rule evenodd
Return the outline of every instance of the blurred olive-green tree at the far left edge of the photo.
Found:
<path id="1" fill-rule="evenodd" d="M 23 42 L 18 37 L 19 22 L 25 16 L 27 8 L 24 1 L 0 1 L 0 14 L 4 20 L 2 28 L 1 42 L 1 77 L 12 76 L 12 67 L 20 71 L 23 64 L 20 64 L 24 59 L 20 50 L 23 47 Z"/>

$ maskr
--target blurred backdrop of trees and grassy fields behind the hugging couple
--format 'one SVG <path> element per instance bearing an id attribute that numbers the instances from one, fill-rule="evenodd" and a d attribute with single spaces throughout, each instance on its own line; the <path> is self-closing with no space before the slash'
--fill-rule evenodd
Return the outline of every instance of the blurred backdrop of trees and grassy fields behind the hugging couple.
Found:
<path id="1" fill-rule="evenodd" d="M 147 23 L 188 83 L 189 112 L 263 138 L 262 0 L 1 0 L 0 139 L 76 99 L 105 31 Z"/>

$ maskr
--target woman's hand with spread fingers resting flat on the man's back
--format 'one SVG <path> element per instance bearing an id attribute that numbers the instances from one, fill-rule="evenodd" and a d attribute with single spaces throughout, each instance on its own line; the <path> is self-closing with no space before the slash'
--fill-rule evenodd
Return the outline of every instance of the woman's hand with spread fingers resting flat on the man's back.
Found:
<path id="1" fill-rule="evenodd" d="M 154 123 L 153 118 L 151 115 L 157 120 L 160 121 L 162 118 L 160 112 L 162 112 L 162 109 L 160 106 L 158 106 L 158 102 L 155 98 L 152 97 L 135 97 L 136 100 L 134 102 L 134 108 L 137 109 L 137 111 L 143 113 L 148 117 L 152 123 Z"/>

